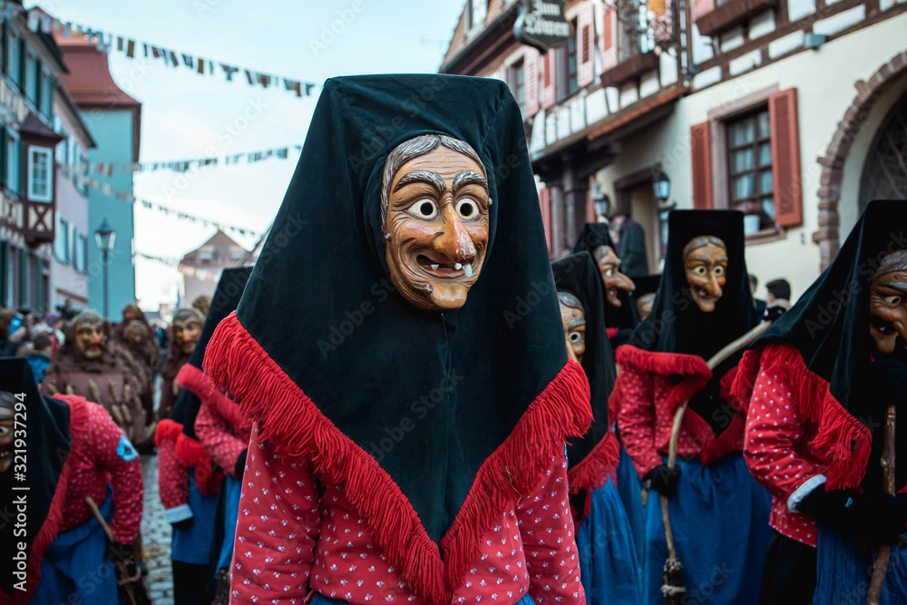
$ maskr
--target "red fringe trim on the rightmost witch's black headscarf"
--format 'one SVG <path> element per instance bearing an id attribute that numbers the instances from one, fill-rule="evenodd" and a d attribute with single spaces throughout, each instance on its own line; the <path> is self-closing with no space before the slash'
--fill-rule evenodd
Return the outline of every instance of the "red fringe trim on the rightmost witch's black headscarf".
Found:
<path id="1" fill-rule="evenodd" d="M 734 381 L 733 393 L 749 405 L 761 372 L 776 376 L 794 390 L 793 401 L 806 420 L 818 424 L 812 447 L 829 461 L 830 490 L 856 487 L 863 480 L 873 434 L 828 392 L 828 381 L 814 374 L 793 345 L 769 345 L 746 351 Z"/>

